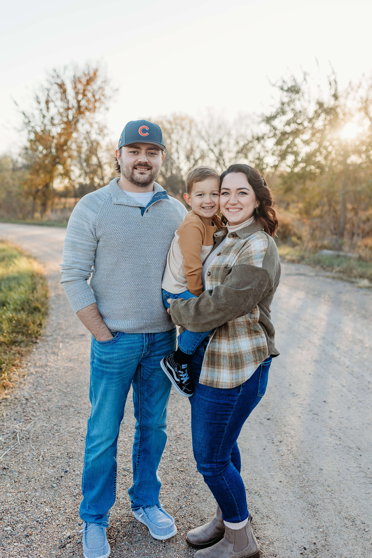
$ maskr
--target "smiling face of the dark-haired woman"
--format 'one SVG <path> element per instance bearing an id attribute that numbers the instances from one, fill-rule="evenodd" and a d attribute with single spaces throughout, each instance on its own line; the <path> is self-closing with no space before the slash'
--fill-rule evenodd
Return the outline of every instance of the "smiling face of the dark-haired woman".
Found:
<path id="1" fill-rule="evenodd" d="M 220 211 L 229 225 L 240 225 L 259 206 L 252 186 L 243 172 L 230 172 L 221 184 Z"/>

